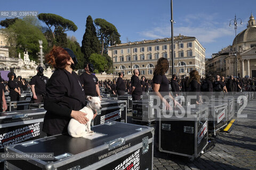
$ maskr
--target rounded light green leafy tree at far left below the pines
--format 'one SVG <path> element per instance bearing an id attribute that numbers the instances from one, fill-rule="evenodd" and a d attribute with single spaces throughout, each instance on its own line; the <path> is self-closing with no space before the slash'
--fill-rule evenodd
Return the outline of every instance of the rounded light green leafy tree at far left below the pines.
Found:
<path id="1" fill-rule="evenodd" d="M 47 40 L 44 37 L 42 31 L 39 30 L 35 25 L 31 25 L 27 21 L 17 20 L 5 30 L 10 33 L 9 37 L 7 37 L 7 41 L 10 46 L 11 44 L 15 46 L 17 52 L 15 54 L 16 56 L 18 53 L 23 55 L 23 52 L 27 50 L 30 60 L 37 61 L 37 53 L 39 52 L 39 39 L 43 41 L 43 52 L 46 52 Z"/>

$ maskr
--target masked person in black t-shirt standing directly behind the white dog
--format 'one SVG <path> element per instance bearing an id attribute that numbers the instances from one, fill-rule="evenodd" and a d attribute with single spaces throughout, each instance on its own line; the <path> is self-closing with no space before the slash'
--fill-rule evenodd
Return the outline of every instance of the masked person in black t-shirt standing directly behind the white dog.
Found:
<path id="1" fill-rule="evenodd" d="M 85 96 L 100 96 L 98 78 L 92 74 L 94 71 L 93 64 L 86 63 L 84 70 L 85 72 L 80 75 L 80 79 L 84 88 Z"/>

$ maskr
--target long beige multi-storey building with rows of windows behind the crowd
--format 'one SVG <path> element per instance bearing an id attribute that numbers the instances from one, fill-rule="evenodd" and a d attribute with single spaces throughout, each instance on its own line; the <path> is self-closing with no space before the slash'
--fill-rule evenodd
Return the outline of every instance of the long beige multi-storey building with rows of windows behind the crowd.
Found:
<path id="1" fill-rule="evenodd" d="M 175 36 L 173 50 L 175 74 L 181 77 L 192 70 L 205 74 L 205 48 L 195 37 Z M 153 78 L 158 58 L 165 57 L 170 62 L 166 75 L 170 75 L 171 38 L 116 44 L 108 47 L 108 55 L 113 58 L 114 74 L 131 74 L 133 69 L 140 69 L 141 75 Z"/>

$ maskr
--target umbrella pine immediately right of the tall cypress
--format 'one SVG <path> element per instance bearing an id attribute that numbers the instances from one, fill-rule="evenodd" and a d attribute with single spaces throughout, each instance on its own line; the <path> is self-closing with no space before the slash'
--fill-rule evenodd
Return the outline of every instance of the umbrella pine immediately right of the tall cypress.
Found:
<path id="1" fill-rule="evenodd" d="M 120 35 L 115 27 L 115 25 L 107 22 L 104 19 L 97 18 L 94 20 L 94 23 L 97 25 L 98 36 L 101 43 L 101 55 L 103 53 L 107 54 L 107 47 L 110 45 L 120 44 Z"/>

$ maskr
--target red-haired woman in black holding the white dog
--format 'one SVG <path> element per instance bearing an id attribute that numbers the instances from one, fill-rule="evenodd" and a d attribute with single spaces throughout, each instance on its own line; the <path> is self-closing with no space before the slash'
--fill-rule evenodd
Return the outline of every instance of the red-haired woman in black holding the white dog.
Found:
<path id="1" fill-rule="evenodd" d="M 46 55 L 46 62 L 55 71 L 46 84 L 44 108 L 47 112 L 44 116 L 43 132 L 48 136 L 67 134 L 71 118 L 82 124 L 88 121 L 86 113 L 79 111 L 86 102 L 81 80 L 73 71 L 77 64 L 76 56 L 68 48 L 54 46 Z"/>

